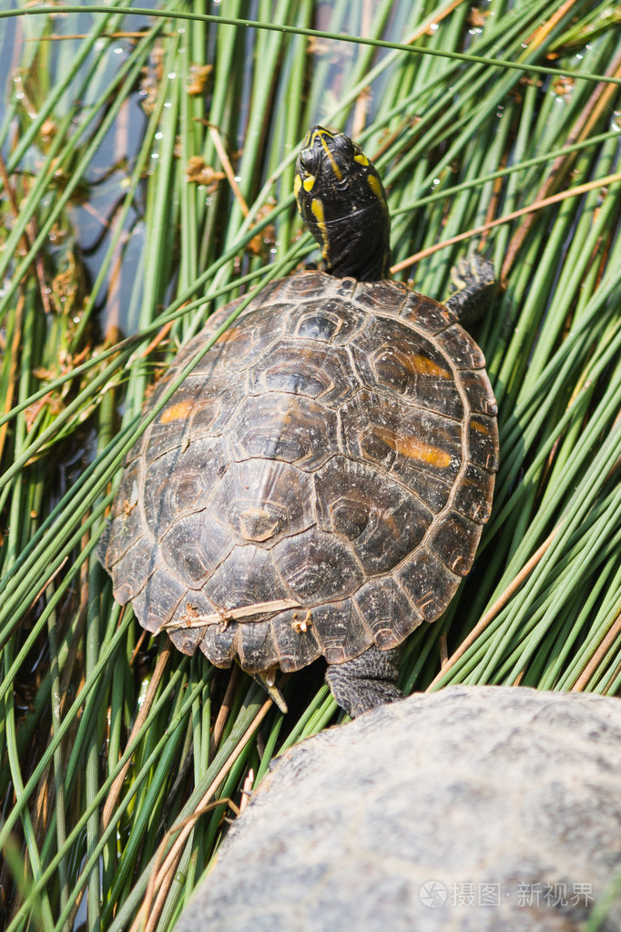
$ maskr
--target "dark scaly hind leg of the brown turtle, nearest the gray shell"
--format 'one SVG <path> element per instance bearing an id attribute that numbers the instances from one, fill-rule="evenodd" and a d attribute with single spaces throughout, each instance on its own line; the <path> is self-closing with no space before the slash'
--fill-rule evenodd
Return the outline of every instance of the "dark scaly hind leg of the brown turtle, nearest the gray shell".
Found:
<path id="1" fill-rule="evenodd" d="M 397 686 L 400 655 L 400 648 L 380 651 L 372 644 L 353 660 L 328 666 L 326 682 L 330 691 L 352 719 L 370 708 L 403 698 Z"/>

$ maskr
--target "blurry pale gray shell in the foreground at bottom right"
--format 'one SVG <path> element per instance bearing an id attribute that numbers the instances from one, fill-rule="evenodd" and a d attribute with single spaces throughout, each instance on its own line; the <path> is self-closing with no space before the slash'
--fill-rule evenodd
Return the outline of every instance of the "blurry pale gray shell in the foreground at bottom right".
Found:
<path id="1" fill-rule="evenodd" d="M 277 762 L 175 932 L 577 932 L 621 871 L 620 774 L 618 699 L 381 706 Z"/>

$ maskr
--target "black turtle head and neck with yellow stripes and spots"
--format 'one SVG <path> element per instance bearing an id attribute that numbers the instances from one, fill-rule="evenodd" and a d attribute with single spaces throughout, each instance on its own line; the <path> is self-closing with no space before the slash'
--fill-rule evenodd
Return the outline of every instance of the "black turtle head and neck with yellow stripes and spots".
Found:
<path id="1" fill-rule="evenodd" d="M 337 278 L 390 277 L 390 216 L 382 179 L 343 132 L 314 126 L 295 165 L 295 199 Z"/>

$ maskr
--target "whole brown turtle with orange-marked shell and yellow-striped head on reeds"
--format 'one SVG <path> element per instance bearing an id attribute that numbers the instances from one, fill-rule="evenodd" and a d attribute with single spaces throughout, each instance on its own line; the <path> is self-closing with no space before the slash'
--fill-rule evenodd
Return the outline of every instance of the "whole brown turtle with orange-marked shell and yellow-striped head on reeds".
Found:
<path id="1" fill-rule="evenodd" d="M 295 196 L 322 254 L 267 284 L 129 451 L 99 555 L 115 598 L 185 653 L 274 686 L 323 655 L 352 717 L 400 698 L 400 645 L 469 571 L 498 466 L 485 359 L 460 323 L 493 267 L 442 304 L 390 278 L 376 168 L 312 127 Z M 236 308 L 214 313 L 146 405 Z"/>

